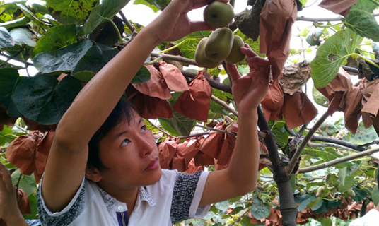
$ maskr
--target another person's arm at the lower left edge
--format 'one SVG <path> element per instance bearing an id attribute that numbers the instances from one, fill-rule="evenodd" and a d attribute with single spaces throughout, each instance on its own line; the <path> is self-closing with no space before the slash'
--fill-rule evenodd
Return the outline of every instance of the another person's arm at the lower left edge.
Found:
<path id="1" fill-rule="evenodd" d="M 0 163 L 0 219 L 7 225 L 23 225 L 25 220 L 17 205 L 16 189 L 8 169 Z"/>

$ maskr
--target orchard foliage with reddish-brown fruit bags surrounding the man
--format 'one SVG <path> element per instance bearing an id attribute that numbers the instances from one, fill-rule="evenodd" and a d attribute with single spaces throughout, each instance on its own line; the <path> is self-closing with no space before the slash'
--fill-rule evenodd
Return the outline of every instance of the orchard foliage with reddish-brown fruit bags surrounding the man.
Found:
<path id="1" fill-rule="evenodd" d="M 267 38 L 260 39 L 260 34 L 269 29 L 262 23 L 260 27 L 260 13 L 267 2 L 248 1 L 249 8 L 236 12 L 235 23 L 229 26 L 256 52 L 270 45 L 263 44 L 269 42 Z M 307 0 L 288 2 L 296 3 L 296 10 L 301 10 Z M 373 145 L 378 143 L 379 131 L 379 87 L 375 80 L 379 75 L 379 25 L 373 16 L 379 2 L 354 1 L 350 11 L 346 2 L 341 1 L 337 7 L 342 18 L 298 18 L 313 21 L 299 34 L 308 46 L 288 47 L 284 58 L 265 51 L 273 62 L 280 61 L 282 66 L 286 62 L 283 76 L 281 66 L 277 71 L 273 69 L 274 78 L 280 82 L 273 83 L 262 107 L 267 119 L 274 119 L 268 126 L 281 162 L 295 169 L 289 170 L 288 178 L 291 196 L 298 204 L 297 222 L 301 224 L 313 218 L 316 220 L 308 224 L 346 225 L 346 220 L 358 216 L 362 206 L 363 210 L 366 206 L 372 208 L 371 202 L 378 203 L 379 199 L 375 180 L 379 160 L 371 156 L 377 151 Z M 21 208 L 25 218 L 32 219 L 37 218 L 36 188 L 59 119 L 83 85 L 143 29 L 119 11 L 129 3 L 145 4 L 156 12 L 169 1 L 0 3 L 0 160 L 11 169 L 13 183 L 23 190 L 25 202 L 21 202 Z M 296 19 L 296 11 L 291 13 L 274 15 L 290 21 Z M 269 32 L 285 40 L 291 37 L 291 24 L 286 23 L 287 32 Z M 177 42 L 161 43 L 124 96 L 134 102 L 146 120 L 158 119 L 147 124 L 159 143 L 165 168 L 185 172 L 204 167 L 221 169 L 228 165 L 233 152 L 238 112 L 227 72 L 222 65 L 207 73 L 202 69 L 198 73 L 193 67 L 197 43 L 209 35 L 195 32 Z M 278 47 L 285 50 L 284 46 L 281 43 Z M 317 51 L 317 57 L 310 64 L 296 59 L 312 51 Z M 289 54 L 291 60 L 286 61 Z M 28 72 L 32 66 L 39 71 L 36 75 Z M 341 66 L 351 75 L 341 71 Z M 245 61 L 238 64 L 238 69 L 240 73 L 249 72 Z M 314 88 L 306 83 L 310 77 Z M 310 89 L 313 92 L 307 92 Z M 308 93 L 313 95 L 307 97 Z M 194 100 L 188 98 L 190 95 Z M 322 107 L 317 109 L 326 113 L 318 112 L 316 117 L 312 99 L 328 107 L 330 114 L 344 112 L 344 117 L 325 122 L 329 114 Z M 260 133 L 262 170 L 258 188 L 246 196 L 217 203 L 204 220 L 182 224 L 281 225 L 279 191 L 272 174 L 275 166 L 271 149 L 264 143 L 267 136 Z M 357 152 L 363 154 L 356 157 L 353 154 Z M 330 164 L 336 161 L 339 164 Z"/>

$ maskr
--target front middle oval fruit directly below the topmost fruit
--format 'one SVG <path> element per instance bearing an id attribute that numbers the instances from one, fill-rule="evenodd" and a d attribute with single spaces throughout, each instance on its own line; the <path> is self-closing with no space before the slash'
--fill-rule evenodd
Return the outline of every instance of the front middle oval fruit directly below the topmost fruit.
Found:
<path id="1" fill-rule="evenodd" d="M 229 28 L 218 28 L 209 35 L 204 52 L 211 61 L 223 61 L 233 47 L 233 32 Z"/>

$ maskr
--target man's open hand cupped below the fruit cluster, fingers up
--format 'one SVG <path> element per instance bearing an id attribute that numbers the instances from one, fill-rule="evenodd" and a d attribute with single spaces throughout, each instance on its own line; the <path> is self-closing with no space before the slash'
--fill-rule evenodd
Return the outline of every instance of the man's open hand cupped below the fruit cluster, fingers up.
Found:
<path id="1" fill-rule="evenodd" d="M 250 66 L 247 76 L 240 76 L 234 64 L 226 66 L 231 76 L 232 92 L 238 112 L 252 113 L 257 111 L 269 89 L 270 64 L 268 60 L 258 57 L 248 44 L 241 47 L 241 52 L 247 56 L 246 61 Z"/>

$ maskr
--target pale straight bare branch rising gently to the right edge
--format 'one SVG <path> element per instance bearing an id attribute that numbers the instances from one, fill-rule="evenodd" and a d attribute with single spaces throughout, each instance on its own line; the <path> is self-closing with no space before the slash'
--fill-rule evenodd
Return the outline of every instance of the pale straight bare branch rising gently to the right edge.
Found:
<path id="1" fill-rule="evenodd" d="M 355 160 L 359 157 L 363 157 L 363 156 L 367 156 L 367 155 L 371 155 L 373 153 L 377 153 L 379 152 L 379 148 L 373 148 L 371 150 L 365 150 L 361 153 L 357 153 L 355 155 L 349 155 L 349 156 L 345 156 L 345 157 L 340 157 L 340 158 L 337 158 L 335 160 L 332 160 L 330 162 L 324 162 L 324 163 L 321 163 L 319 165 L 315 165 L 315 166 L 312 166 L 312 167 L 305 167 L 305 168 L 302 168 L 302 169 L 298 169 L 298 174 L 305 174 L 306 172 L 313 172 L 313 171 L 316 171 L 318 169 L 325 169 L 327 167 L 332 167 L 334 165 L 337 165 L 339 163 L 342 163 L 342 162 L 348 162 L 350 160 Z"/>

